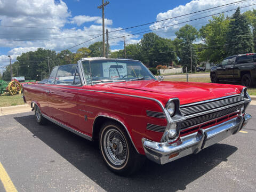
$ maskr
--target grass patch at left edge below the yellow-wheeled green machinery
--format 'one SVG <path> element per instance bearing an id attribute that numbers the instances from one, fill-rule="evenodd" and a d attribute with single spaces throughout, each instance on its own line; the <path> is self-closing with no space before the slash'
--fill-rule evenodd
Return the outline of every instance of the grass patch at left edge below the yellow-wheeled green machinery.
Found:
<path id="1" fill-rule="evenodd" d="M 0 107 L 8 107 L 8 106 L 15 106 L 15 105 L 24 105 L 24 101 L 21 98 L 22 94 L 17 95 L 9 95 L 9 94 L 2 94 L 0 96 Z"/>

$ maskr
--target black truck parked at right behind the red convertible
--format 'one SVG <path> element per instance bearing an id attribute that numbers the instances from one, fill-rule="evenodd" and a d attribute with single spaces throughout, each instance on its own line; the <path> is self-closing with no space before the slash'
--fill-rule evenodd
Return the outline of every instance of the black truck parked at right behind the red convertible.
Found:
<path id="1" fill-rule="evenodd" d="M 256 53 L 234 55 L 211 68 L 211 81 L 241 81 L 251 87 L 256 83 Z"/>

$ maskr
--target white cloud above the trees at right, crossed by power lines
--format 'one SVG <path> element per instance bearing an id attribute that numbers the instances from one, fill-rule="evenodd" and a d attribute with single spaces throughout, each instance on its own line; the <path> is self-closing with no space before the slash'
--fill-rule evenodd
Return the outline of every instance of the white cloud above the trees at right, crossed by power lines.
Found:
<path id="1" fill-rule="evenodd" d="M 201 11 L 201 10 L 209 9 L 211 7 L 215 7 L 215 6 L 219 6 L 219 5 L 225 5 L 225 4 L 233 3 L 233 2 L 234 2 L 233 0 L 219 0 L 219 1 L 198 0 L 198 1 L 190 1 L 186 5 L 180 5 L 180 6 L 175 7 L 174 9 L 171 9 L 167 12 L 157 14 L 156 21 L 163 20 L 163 19 L 168 19 L 168 18 L 173 18 L 173 17 L 177 17 L 178 15 L 193 13 L 193 12 L 196 12 L 196 11 Z M 188 21 L 188 20 L 193 20 L 193 19 L 196 19 L 196 18 L 201 18 L 201 17 L 204 17 L 206 15 L 216 14 L 216 13 L 220 13 L 220 12 L 224 12 L 224 11 L 228 11 L 228 10 L 233 10 L 233 9 L 236 9 L 238 6 L 241 7 L 241 6 L 246 6 L 246 5 L 250 5 L 250 4 L 253 4 L 253 0 L 241 2 L 241 3 L 237 3 L 237 4 L 233 4 L 233 5 L 228 5 L 226 7 L 218 7 L 217 9 L 208 10 L 208 11 L 204 11 L 204 12 L 199 12 L 199 13 L 187 15 L 187 16 L 184 16 L 184 17 L 165 20 L 165 21 L 157 22 L 157 23 L 154 23 L 153 25 L 150 25 L 150 29 L 165 27 L 163 29 L 154 30 L 154 33 L 156 33 L 156 34 L 158 34 L 162 37 L 165 37 L 165 38 L 172 38 L 173 39 L 173 38 L 175 38 L 175 34 L 174 34 L 175 31 L 179 30 L 180 27 L 188 24 L 188 25 L 195 26 L 197 29 L 199 29 L 203 25 L 206 25 L 206 23 L 208 22 L 209 19 L 211 19 L 211 17 L 207 17 L 207 18 L 203 18 L 203 19 L 199 19 L 199 20 L 195 20 L 195 21 L 190 21 L 190 22 L 186 22 L 186 23 L 181 23 L 180 25 L 175 25 L 175 24 L 178 24 L 180 22 L 185 22 L 185 21 Z M 254 5 L 254 7 L 255 7 L 255 5 Z M 250 10 L 250 9 L 252 9 L 252 6 L 245 7 L 244 9 L 241 9 L 241 12 L 244 12 L 244 11 L 247 11 L 247 10 Z M 225 13 L 225 15 L 230 16 L 234 12 L 235 11 L 230 11 L 230 12 Z M 174 25 L 174 26 L 166 27 L 166 26 L 170 26 L 170 25 Z"/>

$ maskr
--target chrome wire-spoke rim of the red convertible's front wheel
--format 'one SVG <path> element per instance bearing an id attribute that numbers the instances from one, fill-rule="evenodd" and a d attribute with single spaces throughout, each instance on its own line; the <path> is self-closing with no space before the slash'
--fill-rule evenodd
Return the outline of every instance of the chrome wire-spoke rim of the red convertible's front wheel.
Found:
<path id="1" fill-rule="evenodd" d="M 103 138 L 103 148 L 109 161 L 114 165 L 122 165 L 127 157 L 127 143 L 123 135 L 116 129 L 109 129 Z"/>

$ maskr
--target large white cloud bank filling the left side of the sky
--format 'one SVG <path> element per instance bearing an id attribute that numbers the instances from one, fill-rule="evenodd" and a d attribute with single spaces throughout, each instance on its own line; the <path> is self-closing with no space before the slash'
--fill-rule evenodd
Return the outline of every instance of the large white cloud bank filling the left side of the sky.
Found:
<path id="1" fill-rule="evenodd" d="M 11 7 L 11 9 L 10 9 Z M 22 54 L 22 52 L 34 51 L 37 47 L 51 49 L 57 52 L 83 43 L 102 33 L 101 17 L 90 17 L 86 15 L 77 15 L 72 17 L 71 12 L 65 2 L 59 0 L 0 0 L 0 25 L 2 26 L 27 26 L 27 27 L 44 27 L 44 28 L 64 28 L 66 24 L 73 22 L 77 26 L 84 22 L 94 22 L 94 25 L 83 27 L 81 29 L 42 29 L 42 28 L 16 28 L 1 27 L 0 47 L 9 47 L 12 50 L 9 53 L 0 52 L 0 67 L 9 63 L 8 54 L 11 55 L 12 62 Z M 113 21 L 106 19 L 108 30 L 122 29 L 120 27 L 111 27 Z M 125 30 L 111 33 L 110 36 L 129 35 Z M 78 38 L 62 38 L 76 37 Z M 56 38 L 56 39 L 53 39 Z M 130 39 L 137 36 L 129 36 Z M 39 41 L 10 41 L 12 39 L 42 39 Z M 87 43 L 79 45 L 70 51 L 75 52 L 81 46 L 89 46 L 97 41 L 102 41 L 102 36 L 93 39 Z M 114 39 L 109 42 L 111 45 L 117 45 L 122 42 L 122 38 Z M 15 47 L 15 48 L 14 48 Z"/>

